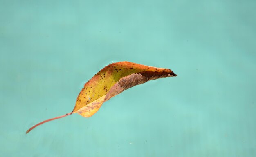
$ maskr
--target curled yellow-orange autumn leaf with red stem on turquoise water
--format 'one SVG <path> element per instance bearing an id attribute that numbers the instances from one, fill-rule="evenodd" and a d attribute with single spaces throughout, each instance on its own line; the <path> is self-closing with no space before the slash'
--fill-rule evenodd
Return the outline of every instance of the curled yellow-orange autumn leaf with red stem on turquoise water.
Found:
<path id="1" fill-rule="evenodd" d="M 83 117 L 91 117 L 99 110 L 104 102 L 124 90 L 143 84 L 149 80 L 171 76 L 177 75 L 170 69 L 165 68 L 156 68 L 132 62 L 109 64 L 85 83 L 84 88 L 76 99 L 76 105 L 72 112 L 40 122 L 27 130 L 26 133 L 29 133 L 36 126 L 45 122 L 66 117 L 73 113 L 78 113 Z"/>

